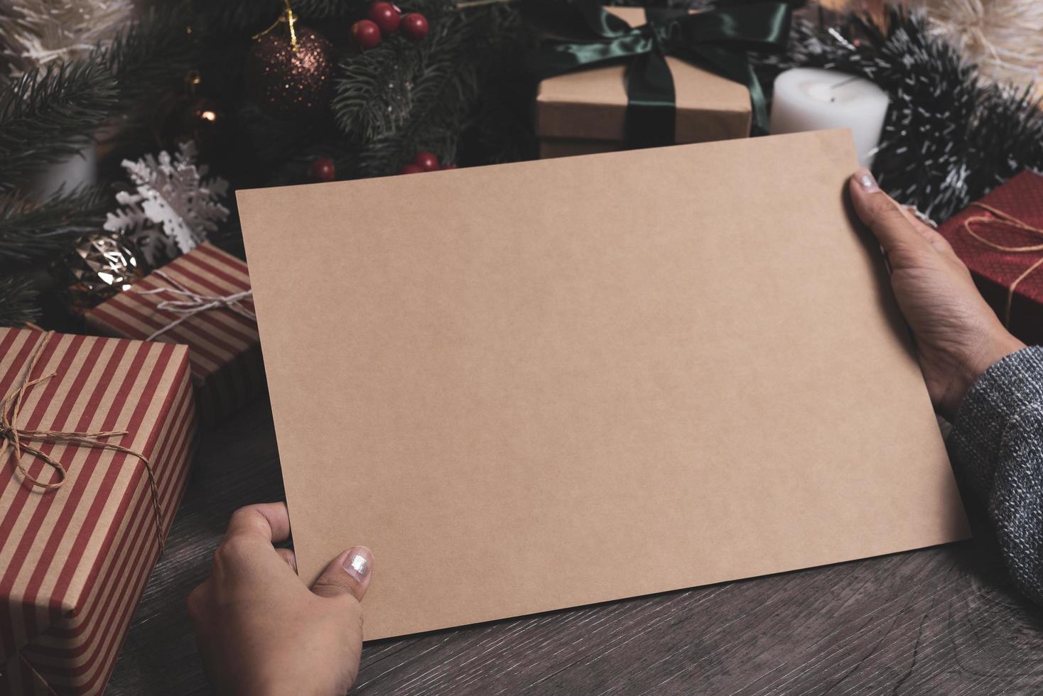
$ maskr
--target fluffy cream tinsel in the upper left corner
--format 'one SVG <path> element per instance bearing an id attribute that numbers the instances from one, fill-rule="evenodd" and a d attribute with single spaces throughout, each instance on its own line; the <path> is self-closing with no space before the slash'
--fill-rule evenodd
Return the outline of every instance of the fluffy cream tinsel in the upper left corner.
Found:
<path id="1" fill-rule="evenodd" d="M 10 77 L 82 58 L 131 19 L 131 0 L 19 0 L 0 4 L 0 72 Z"/>

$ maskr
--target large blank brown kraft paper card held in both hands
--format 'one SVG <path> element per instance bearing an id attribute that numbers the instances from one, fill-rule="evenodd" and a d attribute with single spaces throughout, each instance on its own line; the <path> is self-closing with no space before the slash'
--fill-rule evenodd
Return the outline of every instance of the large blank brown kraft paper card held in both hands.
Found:
<path id="1" fill-rule="evenodd" d="M 366 639 L 968 536 L 848 131 L 239 192 L 300 574 Z"/>

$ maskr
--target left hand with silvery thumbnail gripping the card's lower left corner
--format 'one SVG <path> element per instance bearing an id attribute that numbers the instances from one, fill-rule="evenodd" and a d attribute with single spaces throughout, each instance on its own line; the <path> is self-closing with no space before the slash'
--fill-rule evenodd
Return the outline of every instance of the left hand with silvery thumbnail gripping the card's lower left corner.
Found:
<path id="1" fill-rule="evenodd" d="M 364 546 L 333 560 L 311 590 L 297 577 L 286 504 L 237 509 L 205 582 L 189 595 L 203 668 L 222 694 L 344 694 L 359 671 Z"/>

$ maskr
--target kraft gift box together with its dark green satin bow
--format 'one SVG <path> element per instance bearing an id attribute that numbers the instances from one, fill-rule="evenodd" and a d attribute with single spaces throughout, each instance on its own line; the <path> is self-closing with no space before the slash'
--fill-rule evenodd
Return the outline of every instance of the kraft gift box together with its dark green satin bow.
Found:
<path id="1" fill-rule="evenodd" d="M 701 143 L 763 133 L 765 95 L 747 51 L 780 51 L 790 5 L 686 10 L 523 0 L 544 42 L 530 66 L 540 84 L 540 156 Z"/>

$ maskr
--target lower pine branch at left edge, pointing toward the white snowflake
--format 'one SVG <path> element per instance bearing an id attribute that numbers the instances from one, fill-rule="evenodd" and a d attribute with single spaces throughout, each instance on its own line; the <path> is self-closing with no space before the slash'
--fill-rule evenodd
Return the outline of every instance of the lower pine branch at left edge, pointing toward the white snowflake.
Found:
<path id="1" fill-rule="evenodd" d="M 42 204 L 14 198 L 0 206 L 0 264 L 25 264 L 101 229 L 111 204 L 101 187 L 57 194 Z"/>

